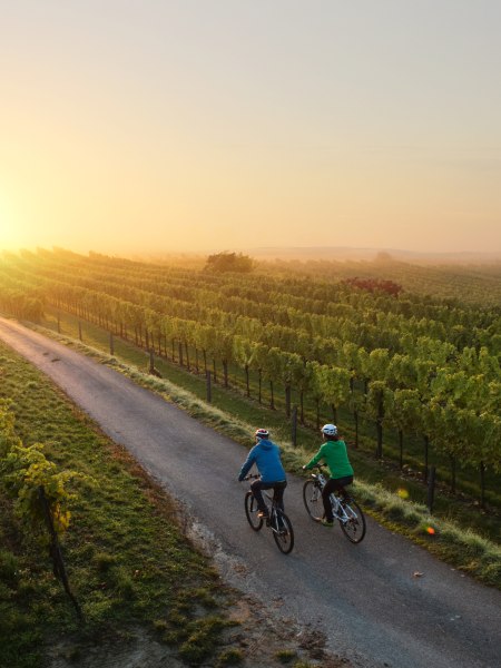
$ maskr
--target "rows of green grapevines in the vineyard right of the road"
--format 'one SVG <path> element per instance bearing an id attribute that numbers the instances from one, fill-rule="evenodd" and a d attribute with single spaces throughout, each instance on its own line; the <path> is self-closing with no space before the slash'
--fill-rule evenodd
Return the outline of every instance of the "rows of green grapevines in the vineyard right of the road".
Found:
<path id="1" fill-rule="evenodd" d="M 416 292 L 382 277 L 395 264 L 410 284 L 419 274 Z M 0 299 L 6 313 L 27 320 L 71 314 L 80 327 L 96 324 L 188 372 L 210 372 L 215 384 L 257 395 L 287 418 L 297 406 L 302 424 L 341 420 L 356 446 L 372 424 L 379 459 L 403 469 L 407 458 L 424 478 L 434 464 L 453 493 L 495 504 L 501 315 L 488 286 L 499 288 L 499 275 L 459 267 L 443 281 L 445 269 L 435 267 L 423 285 L 420 267 L 404 274 L 401 264 L 326 279 L 277 276 L 275 265 L 249 275 L 24 253 L 4 256 Z M 455 296 L 424 294 L 433 279 L 439 293 L 454 285 Z M 462 298 L 473 292 L 484 303 Z"/>

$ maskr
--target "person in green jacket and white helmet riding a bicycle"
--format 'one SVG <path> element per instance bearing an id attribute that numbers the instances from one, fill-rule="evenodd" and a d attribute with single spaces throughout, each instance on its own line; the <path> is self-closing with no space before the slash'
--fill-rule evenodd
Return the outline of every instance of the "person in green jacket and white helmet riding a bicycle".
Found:
<path id="1" fill-rule="evenodd" d="M 321 449 L 303 469 L 311 469 L 321 460 L 327 464 L 331 478 L 322 490 L 322 501 L 324 502 L 325 512 L 322 524 L 324 527 L 333 527 L 334 517 L 332 514 L 330 495 L 336 490 L 344 490 L 345 485 L 353 482 L 353 468 L 347 456 L 346 443 L 337 436 L 337 426 L 335 424 L 324 424 L 322 435 L 324 442 Z"/>

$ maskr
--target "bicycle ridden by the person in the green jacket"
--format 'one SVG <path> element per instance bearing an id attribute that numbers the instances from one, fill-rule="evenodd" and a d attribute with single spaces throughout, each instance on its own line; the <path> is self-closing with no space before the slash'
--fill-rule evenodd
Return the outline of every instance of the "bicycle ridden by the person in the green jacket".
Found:
<path id="1" fill-rule="evenodd" d="M 318 473 L 312 473 L 312 478 L 303 485 L 303 501 L 308 515 L 315 522 L 324 517 L 324 503 L 322 490 L 327 482 L 322 469 L 325 464 L 315 464 Z M 358 503 L 344 489 L 331 494 L 332 512 L 334 519 L 340 522 L 341 530 L 352 543 L 360 543 L 365 536 L 365 517 Z"/>

